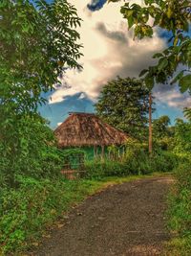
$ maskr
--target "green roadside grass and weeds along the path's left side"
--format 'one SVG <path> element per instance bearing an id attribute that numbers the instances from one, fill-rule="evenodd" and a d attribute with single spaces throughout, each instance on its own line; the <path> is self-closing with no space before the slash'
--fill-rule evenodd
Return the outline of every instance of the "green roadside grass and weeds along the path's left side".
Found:
<path id="1" fill-rule="evenodd" d="M 142 178 L 170 175 L 110 176 L 101 180 L 22 178 L 17 189 L 0 190 L 0 255 L 23 255 L 59 226 L 67 213 L 109 186 Z"/>

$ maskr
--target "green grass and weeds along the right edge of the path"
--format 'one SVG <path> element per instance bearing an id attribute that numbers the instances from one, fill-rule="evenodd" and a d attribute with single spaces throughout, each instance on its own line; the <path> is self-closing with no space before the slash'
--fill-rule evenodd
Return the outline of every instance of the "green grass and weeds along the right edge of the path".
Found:
<path id="1" fill-rule="evenodd" d="M 176 183 L 169 195 L 169 227 L 178 237 L 169 244 L 175 255 L 191 254 L 191 162 L 176 170 Z"/>

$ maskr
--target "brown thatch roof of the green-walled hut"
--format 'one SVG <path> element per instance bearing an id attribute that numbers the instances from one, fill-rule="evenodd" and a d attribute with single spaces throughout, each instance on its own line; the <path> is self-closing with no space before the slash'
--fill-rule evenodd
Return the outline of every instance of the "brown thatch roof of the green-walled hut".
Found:
<path id="1" fill-rule="evenodd" d="M 127 139 L 124 132 L 90 113 L 70 113 L 54 134 L 59 148 L 121 145 Z"/>

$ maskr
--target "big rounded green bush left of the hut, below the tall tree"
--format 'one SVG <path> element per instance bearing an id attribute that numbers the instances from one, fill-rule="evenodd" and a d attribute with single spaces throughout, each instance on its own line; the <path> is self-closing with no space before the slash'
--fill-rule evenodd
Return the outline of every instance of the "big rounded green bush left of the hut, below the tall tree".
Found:
<path id="1" fill-rule="evenodd" d="M 0 139 L 3 183 L 14 186 L 14 177 L 19 174 L 39 178 L 59 175 L 62 158 L 54 146 L 53 131 L 44 119 L 38 115 L 17 116 L 8 130 L 1 133 L 3 140 Z"/>

